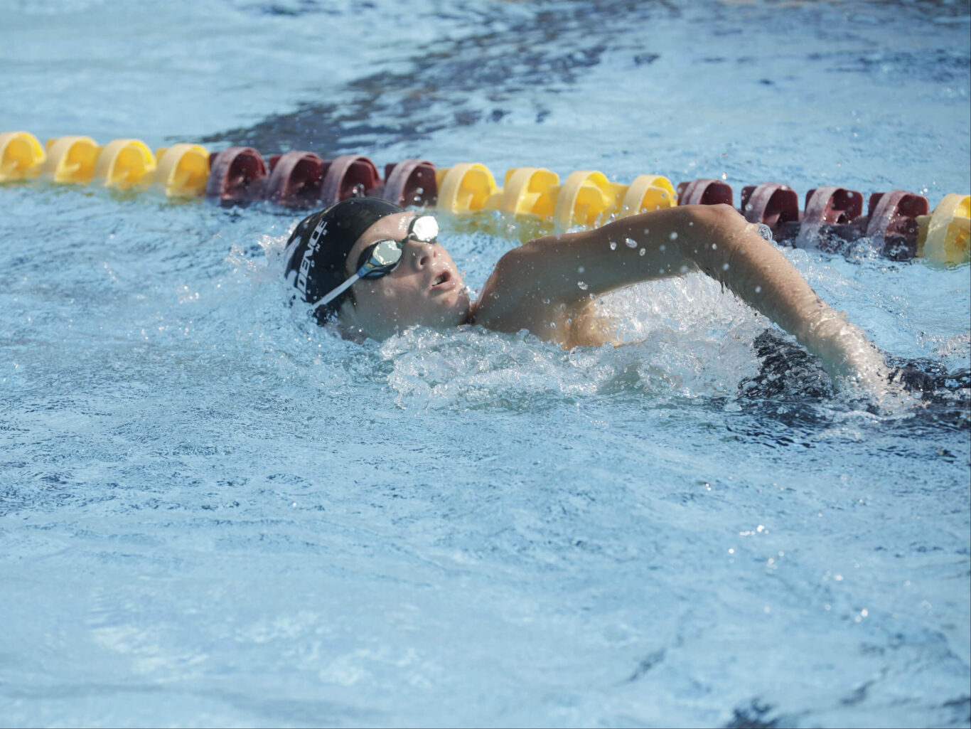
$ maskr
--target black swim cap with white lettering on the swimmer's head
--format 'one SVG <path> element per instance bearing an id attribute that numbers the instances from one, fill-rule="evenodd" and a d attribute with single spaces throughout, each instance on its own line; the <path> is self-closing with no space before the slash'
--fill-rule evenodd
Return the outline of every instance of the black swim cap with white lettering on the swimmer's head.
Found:
<path id="1" fill-rule="evenodd" d="M 286 242 L 286 280 L 304 301 L 318 301 L 347 278 L 344 266 L 361 234 L 385 215 L 403 212 L 404 208 L 377 197 L 352 197 L 307 216 Z M 347 294 L 318 307 L 318 324 L 337 315 Z"/>

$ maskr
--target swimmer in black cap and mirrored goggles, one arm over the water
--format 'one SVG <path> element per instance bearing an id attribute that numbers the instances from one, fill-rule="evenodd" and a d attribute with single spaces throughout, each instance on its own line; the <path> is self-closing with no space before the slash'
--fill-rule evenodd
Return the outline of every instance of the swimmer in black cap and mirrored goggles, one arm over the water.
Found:
<path id="1" fill-rule="evenodd" d="M 285 276 L 319 324 L 383 339 L 414 325 L 528 330 L 564 348 L 612 341 L 593 298 L 702 271 L 793 334 L 834 378 L 887 383 L 880 351 L 728 205 L 685 205 L 551 235 L 495 264 L 471 301 L 435 219 L 377 198 L 315 213 L 287 243 Z"/>

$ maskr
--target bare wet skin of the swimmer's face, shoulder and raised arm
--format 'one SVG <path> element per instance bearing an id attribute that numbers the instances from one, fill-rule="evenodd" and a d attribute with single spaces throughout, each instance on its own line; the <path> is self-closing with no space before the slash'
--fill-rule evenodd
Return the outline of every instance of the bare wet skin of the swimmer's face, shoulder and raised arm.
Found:
<path id="1" fill-rule="evenodd" d="M 354 243 L 346 273 L 383 238 L 399 240 L 416 213 L 387 216 Z M 409 241 L 389 275 L 353 284 L 340 310 L 352 335 L 384 338 L 412 325 L 474 323 L 529 330 L 570 348 L 610 341 L 592 297 L 639 281 L 702 271 L 820 356 L 831 374 L 886 382 L 882 354 L 846 316 L 826 304 L 756 226 L 726 205 L 686 205 L 606 226 L 532 240 L 506 253 L 470 303 L 441 244 Z M 581 285 L 582 284 L 582 285 Z"/>

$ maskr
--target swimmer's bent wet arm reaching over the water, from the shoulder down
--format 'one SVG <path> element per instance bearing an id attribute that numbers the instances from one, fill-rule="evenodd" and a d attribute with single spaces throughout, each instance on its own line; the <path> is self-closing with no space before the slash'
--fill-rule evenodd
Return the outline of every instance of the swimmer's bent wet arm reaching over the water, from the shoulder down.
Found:
<path id="1" fill-rule="evenodd" d="M 499 261 L 477 320 L 542 335 L 538 324 L 561 305 L 576 307 L 591 294 L 699 269 L 794 334 L 831 373 L 884 375 L 883 358 L 865 334 L 727 205 L 669 208 L 530 241 Z"/>

